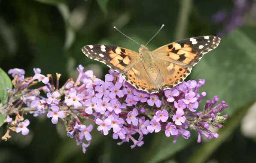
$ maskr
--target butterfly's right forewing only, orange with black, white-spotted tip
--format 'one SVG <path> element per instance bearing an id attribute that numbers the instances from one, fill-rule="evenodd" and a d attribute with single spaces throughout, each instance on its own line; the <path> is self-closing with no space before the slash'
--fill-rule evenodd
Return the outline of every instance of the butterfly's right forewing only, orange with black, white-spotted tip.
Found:
<path id="1" fill-rule="evenodd" d="M 158 60 L 168 60 L 183 67 L 192 67 L 205 53 L 219 45 L 217 36 L 201 36 L 172 42 L 152 51 Z"/>

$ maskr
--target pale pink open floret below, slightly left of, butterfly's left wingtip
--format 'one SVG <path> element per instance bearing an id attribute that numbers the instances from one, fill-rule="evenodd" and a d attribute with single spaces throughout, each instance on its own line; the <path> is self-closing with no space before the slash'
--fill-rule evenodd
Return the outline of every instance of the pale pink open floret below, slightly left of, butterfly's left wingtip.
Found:
<path id="1" fill-rule="evenodd" d="M 82 106 L 82 103 L 79 102 L 80 100 L 83 100 L 83 96 L 81 94 L 76 95 L 76 90 L 72 90 L 68 93 L 68 97 L 64 103 L 66 103 L 67 106 L 74 105 L 75 108 L 78 108 Z"/>

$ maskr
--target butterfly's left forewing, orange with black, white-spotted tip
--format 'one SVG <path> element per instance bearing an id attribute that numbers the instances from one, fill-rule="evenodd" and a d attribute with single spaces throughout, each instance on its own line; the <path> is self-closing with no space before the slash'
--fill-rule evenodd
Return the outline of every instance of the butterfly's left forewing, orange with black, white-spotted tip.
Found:
<path id="1" fill-rule="evenodd" d="M 111 69 L 125 73 L 138 61 L 138 53 L 110 45 L 86 45 L 82 52 L 93 60 L 105 63 Z"/>

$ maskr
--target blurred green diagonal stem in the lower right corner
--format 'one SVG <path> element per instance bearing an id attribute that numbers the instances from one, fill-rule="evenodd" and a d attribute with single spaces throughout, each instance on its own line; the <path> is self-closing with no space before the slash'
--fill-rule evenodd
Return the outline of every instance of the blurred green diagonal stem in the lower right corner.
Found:
<path id="1" fill-rule="evenodd" d="M 218 139 L 212 139 L 202 145 L 195 154 L 188 159 L 188 163 L 205 163 L 213 152 L 223 143 L 233 131 L 239 126 L 241 119 L 244 117 L 248 109 L 256 102 L 250 102 L 246 106 L 239 108 L 235 114 L 228 119 L 225 127 L 219 130 Z"/>

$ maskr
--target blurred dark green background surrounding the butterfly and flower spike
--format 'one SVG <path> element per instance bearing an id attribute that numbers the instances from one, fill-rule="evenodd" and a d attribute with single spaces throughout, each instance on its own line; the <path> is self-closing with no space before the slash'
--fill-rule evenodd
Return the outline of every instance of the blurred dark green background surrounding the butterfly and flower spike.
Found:
<path id="1" fill-rule="evenodd" d="M 200 90 L 207 92 L 205 100 L 218 95 L 229 105 L 229 120 L 218 131 L 218 139 L 198 144 L 192 131 L 188 140 L 179 138 L 173 144 L 163 132 L 153 133 L 145 136 L 142 147 L 131 150 L 131 142 L 118 146 L 119 140 L 94 128 L 83 154 L 61 123 L 27 115 L 30 134 L 11 133 L 8 142 L 1 140 L 0 163 L 256 162 L 255 0 L 0 0 L 0 67 L 6 72 L 22 68 L 27 76 L 34 74 L 34 67 L 44 75 L 58 72 L 64 84 L 67 78 L 76 78 L 76 66 L 82 64 L 104 78 L 108 67 L 85 57 L 82 46 L 105 44 L 138 51 L 140 47 L 113 26 L 146 44 L 162 24 L 150 50 L 188 37 L 222 39 L 188 78 L 206 79 Z M 0 135 L 5 132 L 1 127 Z"/>

